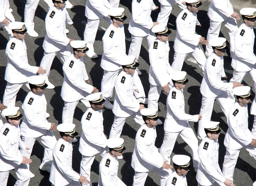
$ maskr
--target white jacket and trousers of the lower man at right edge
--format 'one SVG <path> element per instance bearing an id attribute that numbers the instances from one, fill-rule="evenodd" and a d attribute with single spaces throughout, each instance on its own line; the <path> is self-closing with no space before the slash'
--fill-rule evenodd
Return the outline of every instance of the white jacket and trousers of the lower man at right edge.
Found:
<path id="1" fill-rule="evenodd" d="M 233 180 L 240 150 L 244 148 L 256 157 L 256 148 L 250 145 L 254 137 L 248 129 L 247 104 L 241 107 L 236 102 L 229 112 L 227 124 L 229 128 L 224 139 L 226 155 L 224 157 L 222 171 L 226 179 Z"/>

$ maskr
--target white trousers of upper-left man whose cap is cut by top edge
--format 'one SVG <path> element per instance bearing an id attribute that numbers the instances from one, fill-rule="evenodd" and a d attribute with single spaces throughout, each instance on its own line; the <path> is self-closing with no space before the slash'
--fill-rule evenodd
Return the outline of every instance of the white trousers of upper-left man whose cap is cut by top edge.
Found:
<path id="1" fill-rule="evenodd" d="M 57 52 L 52 52 L 52 53 L 47 53 L 46 51 L 44 51 L 44 57 L 41 60 L 40 67 L 43 67 L 44 70 L 46 70 L 46 74 L 39 74 L 39 75 L 49 76 L 53 59 L 55 58 L 55 56 L 58 53 L 60 54 L 62 63 L 64 63 L 66 61 L 67 57 L 70 56 L 70 54 L 71 54 L 70 46 L 67 45 L 65 47 L 65 49 L 63 49 L 61 51 L 57 51 Z"/>

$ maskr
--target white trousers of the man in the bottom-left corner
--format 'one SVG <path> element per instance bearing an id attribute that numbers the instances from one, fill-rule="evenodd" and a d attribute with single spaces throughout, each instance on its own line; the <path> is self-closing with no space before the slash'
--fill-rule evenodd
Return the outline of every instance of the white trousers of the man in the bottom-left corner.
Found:
<path id="1" fill-rule="evenodd" d="M 28 186 L 30 181 L 30 172 L 26 164 L 20 164 L 14 170 L 18 178 L 14 186 Z M 7 186 L 9 172 L 10 171 L 0 172 L 0 186 Z"/>

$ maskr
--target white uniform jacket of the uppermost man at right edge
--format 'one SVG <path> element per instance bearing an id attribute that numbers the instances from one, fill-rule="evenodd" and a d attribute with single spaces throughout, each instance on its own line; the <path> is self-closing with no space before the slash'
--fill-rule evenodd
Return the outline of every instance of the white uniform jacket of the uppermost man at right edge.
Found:
<path id="1" fill-rule="evenodd" d="M 238 72 L 247 72 L 253 69 L 256 56 L 253 54 L 255 34 L 253 26 L 241 24 L 235 35 L 235 50 L 231 66 Z"/>

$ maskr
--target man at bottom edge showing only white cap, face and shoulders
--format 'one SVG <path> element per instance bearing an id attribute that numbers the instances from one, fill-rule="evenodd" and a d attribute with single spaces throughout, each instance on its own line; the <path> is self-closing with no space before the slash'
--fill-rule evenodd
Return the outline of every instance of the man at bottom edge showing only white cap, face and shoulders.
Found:
<path id="1" fill-rule="evenodd" d="M 167 179 L 165 186 L 187 186 L 186 175 L 190 168 L 190 157 L 187 155 L 174 155 L 172 162 L 175 170 Z"/>

